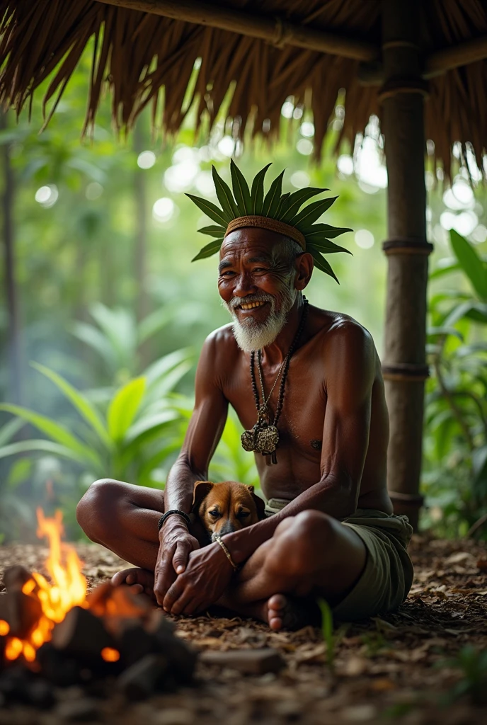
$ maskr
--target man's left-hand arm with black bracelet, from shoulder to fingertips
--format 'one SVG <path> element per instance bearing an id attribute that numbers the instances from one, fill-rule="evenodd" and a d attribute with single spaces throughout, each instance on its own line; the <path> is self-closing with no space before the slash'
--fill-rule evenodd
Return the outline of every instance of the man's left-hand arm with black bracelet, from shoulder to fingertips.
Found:
<path id="1" fill-rule="evenodd" d="M 225 426 L 228 401 L 218 380 L 218 358 L 222 333 L 210 335 L 201 350 L 196 370 L 195 405 L 178 459 L 172 465 L 165 487 L 165 511 L 191 512 L 196 481 L 206 479 L 208 465 Z M 162 604 L 175 574 L 186 569 L 191 551 L 199 547 L 178 515 L 172 515 L 159 531 L 159 556 L 155 569 L 154 594 Z"/>

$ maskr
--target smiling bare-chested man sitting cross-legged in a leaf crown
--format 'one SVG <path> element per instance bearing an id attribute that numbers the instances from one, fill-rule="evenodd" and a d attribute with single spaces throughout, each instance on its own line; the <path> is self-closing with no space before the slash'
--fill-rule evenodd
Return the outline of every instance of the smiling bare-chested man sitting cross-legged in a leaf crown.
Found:
<path id="1" fill-rule="evenodd" d="M 394 610 L 412 583 L 412 529 L 386 489 L 388 414 L 370 335 L 338 312 L 309 305 L 303 291 L 330 239 L 346 229 L 315 222 L 333 203 L 301 205 L 325 189 L 264 195 L 267 167 L 251 190 L 231 164 L 233 194 L 214 170 L 222 205 L 191 197 L 217 226 L 195 257 L 220 252 L 218 291 L 233 323 L 201 351 L 196 402 L 164 497 L 104 479 L 78 505 L 93 541 L 136 568 L 114 584 L 154 592 L 167 612 L 223 605 L 272 629 L 315 621 L 317 597 L 337 618 Z M 266 518 L 207 544 L 191 507 L 196 481 L 225 426 L 228 405 L 254 452 Z M 204 545 L 207 544 L 207 545 Z"/>

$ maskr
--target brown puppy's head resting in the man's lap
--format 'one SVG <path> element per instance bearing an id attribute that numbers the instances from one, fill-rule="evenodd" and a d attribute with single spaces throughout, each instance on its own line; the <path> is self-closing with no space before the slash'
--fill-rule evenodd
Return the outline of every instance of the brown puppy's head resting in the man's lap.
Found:
<path id="1" fill-rule="evenodd" d="M 223 536 L 257 523 L 264 518 L 264 509 L 264 502 L 254 494 L 254 486 L 236 481 L 221 484 L 196 481 L 194 484 L 192 511 L 199 515 L 212 541 L 215 541 L 213 534 Z"/>

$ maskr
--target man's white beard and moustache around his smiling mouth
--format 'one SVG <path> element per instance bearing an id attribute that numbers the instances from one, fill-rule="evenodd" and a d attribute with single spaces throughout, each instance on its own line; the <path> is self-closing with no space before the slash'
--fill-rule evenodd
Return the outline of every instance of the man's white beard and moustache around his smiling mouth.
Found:
<path id="1" fill-rule="evenodd" d="M 294 279 L 294 276 L 293 276 Z M 270 294 L 249 294 L 248 297 L 233 297 L 230 303 L 223 302 L 230 315 L 233 317 L 233 336 L 236 339 L 238 347 L 243 352 L 252 352 L 252 350 L 260 350 L 262 347 L 271 345 L 276 337 L 282 331 L 288 320 L 288 314 L 291 307 L 296 301 L 298 291 L 294 286 L 286 287 L 282 294 L 282 304 L 280 310 L 275 309 L 275 298 Z M 267 320 L 263 323 L 257 323 L 250 316 L 241 323 L 236 317 L 235 307 L 241 305 L 242 302 L 270 302 L 270 312 Z"/>

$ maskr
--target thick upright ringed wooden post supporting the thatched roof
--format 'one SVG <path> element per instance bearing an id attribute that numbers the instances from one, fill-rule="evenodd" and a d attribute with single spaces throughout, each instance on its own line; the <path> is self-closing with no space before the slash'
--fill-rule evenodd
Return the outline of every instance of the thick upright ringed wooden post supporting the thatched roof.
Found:
<path id="1" fill-rule="evenodd" d="M 426 287 L 424 81 L 420 78 L 419 3 L 383 0 L 385 83 L 380 91 L 388 171 L 385 361 L 391 420 L 388 489 L 396 513 L 417 527 L 423 452 Z"/>

